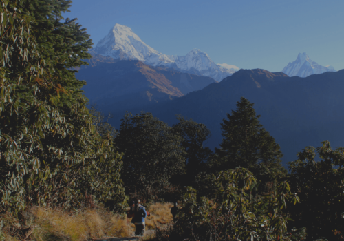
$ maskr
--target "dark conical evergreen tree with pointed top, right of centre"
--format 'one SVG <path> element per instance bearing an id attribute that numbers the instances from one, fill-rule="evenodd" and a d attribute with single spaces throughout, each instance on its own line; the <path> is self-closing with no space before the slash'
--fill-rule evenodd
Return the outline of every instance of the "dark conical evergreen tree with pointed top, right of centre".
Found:
<path id="1" fill-rule="evenodd" d="M 215 148 L 219 156 L 219 169 L 245 167 L 259 180 L 275 180 L 286 175 L 281 165 L 283 156 L 275 139 L 259 124 L 253 103 L 241 97 L 237 110 L 227 114 L 222 126 L 224 136 L 221 148 Z"/>

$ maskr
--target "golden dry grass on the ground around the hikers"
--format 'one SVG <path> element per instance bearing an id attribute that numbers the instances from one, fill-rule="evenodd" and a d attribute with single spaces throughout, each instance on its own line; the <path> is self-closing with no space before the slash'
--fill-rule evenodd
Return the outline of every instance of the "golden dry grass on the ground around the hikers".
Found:
<path id="1" fill-rule="evenodd" d="M 150 217 L 146 218 L 146 233 L 155 233 L 156 228 L 166 227 L 172 222 L 171 207 L 166 203 L 150 205 Z M 5 218 L 1 216 L 0 219 Z M 18 241 L 19 230 L 30 227 L 28 240 L 71 240 L 83 241 L 90 238 L 129 237 L 135 226 L 126 216 L 114 214 L 105 209 L 83 209 L 76 212 L 65 212 L 61 209 L 34 207 L 25 213 L 25 224 L 7 218 L 1 235 L 5 240 Z M 151 231 L 150 231 L 151 230 Z M 17 238 L 16 238 L 17 236 Z M 24 235 L 25 236 L 25 235 Z"/>

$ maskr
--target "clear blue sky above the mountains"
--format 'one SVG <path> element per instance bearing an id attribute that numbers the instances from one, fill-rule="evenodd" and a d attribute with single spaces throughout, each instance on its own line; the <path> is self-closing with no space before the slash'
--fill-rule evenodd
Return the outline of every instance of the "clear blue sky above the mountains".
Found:
<path id="1" fill-rule="evenodd" d="M 306 52 L 320 65 L 344 68 L 343 0 L 72 0 L 94 45 L 126 25 L 163 54 L 193 48 L 215 63 L 281 71 Z"/>

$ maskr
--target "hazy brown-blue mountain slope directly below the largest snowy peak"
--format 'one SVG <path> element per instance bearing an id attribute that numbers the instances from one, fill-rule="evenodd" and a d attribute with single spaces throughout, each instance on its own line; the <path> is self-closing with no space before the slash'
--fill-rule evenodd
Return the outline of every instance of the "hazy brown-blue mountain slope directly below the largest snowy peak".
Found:
<path id="1" fill-rule="evenodd" d="M 89 66 L 81 67 L 76 78 L 86 81 L 83 91 L 89 102 L 104 110 L 125 111 L 170 101 L 217 82 L 210 77 L 153 67 L 137 60 L 120 61 L 94 54 L 88 62 Z"/>

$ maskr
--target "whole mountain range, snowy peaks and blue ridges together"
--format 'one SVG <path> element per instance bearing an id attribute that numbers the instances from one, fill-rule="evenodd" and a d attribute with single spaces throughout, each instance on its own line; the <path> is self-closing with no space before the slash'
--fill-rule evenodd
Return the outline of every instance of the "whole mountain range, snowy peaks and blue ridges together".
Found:
<path id="1" fill-rule="evenodd" d="M 125 111 L 152 112 L 170 125 L 182 114 L 206 124 L 212 133 L 207 146 L 218 147 L 220 123 L 244 96 L 281 145 L 284 164 L 323 140 L 344 146 L 344 70 L 318 65 L 305 53 L 282 72 L 239 70 L 196 49 L 186 56 L 161 54 L 119 24 L 91 53 L 76 78 L 87 82 L 90 103 L 114 115 L 116 128 Z"/>

